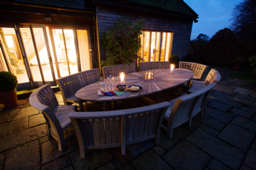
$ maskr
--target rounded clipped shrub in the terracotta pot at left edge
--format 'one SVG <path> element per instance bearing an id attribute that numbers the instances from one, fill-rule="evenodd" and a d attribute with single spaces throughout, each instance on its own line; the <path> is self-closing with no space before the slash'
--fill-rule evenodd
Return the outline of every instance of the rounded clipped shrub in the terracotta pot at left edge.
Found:
<path id="1" fill-rule="evenodd" d="M 17 77 L 9 71 L 0 71 L 0 92 L 9 92 L 17 87 Z"/>

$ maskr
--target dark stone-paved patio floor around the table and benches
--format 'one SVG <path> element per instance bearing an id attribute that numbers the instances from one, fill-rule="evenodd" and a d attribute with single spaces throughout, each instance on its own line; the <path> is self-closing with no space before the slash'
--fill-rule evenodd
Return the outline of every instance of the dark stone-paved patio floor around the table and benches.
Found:
<path id="1" fill-rule="evenodd" d="M 80 159 L 76 136 L 59 151 L 48 138 L 44 116 L 20 99 L 12 110 L 0 105 L 0 170 L 2 169 L 256 169 L 256 87 L 229 77 L 232 71 L 217 68 L 222 80 L 213 88 L 206 114 L 195 116 L 192 126 L 174 129 L 172 139 L 161 131 L 154 140 L 120 148 L 88 150 Z M 61 93 L 55 93 L 63 104 Z M 154 97 L 154 96 L 153 96 Z M 175 96 L 163 94 L 162 100 Z M 146 100 L 118 102 L 117 109 L 149 105 Z M 87 111 L 101 111 L 86 104 Z M 66 133 L 72 133 L 73 127 Z"/>

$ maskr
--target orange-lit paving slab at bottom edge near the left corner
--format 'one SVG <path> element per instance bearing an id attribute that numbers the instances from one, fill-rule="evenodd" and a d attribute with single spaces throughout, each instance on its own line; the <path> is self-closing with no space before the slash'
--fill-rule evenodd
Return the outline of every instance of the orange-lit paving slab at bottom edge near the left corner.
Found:
<path id="1" fill-rule="evenodd" d="M 9 150 L 4 169 L 40 169 L 38 140 Z"/>

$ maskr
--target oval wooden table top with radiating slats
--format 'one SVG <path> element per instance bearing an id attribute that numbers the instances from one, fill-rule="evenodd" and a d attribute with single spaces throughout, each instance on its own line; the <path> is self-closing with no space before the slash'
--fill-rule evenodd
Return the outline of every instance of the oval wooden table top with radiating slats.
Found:
<path id="1" fill-rule="evenodd" d="M 170 74 L 170 69 L 156 69 L 150 71 L 154 72 L 154 80 L 144 80 L 145 72 L 148 71 L 132 72 L 125 75 L 125 85 L 139 85 L 143 87 L 143 89 L 137 92 L 131 92 L 125 89 L 123 91 L 125 94 L 119 96 L 98 96 L 97 92 L 102 86 L 100 82 L 94 82 L 79 89 L 75 96 L 82 101 L 95 102 L 137 98 L 148 94 L 159 93 L 169 88 L 175 88 L 183 84 L 183 82 L 189 81 L 194 76 L 193 71 L 185 69 L 174 69 L 172 74 Z"/>

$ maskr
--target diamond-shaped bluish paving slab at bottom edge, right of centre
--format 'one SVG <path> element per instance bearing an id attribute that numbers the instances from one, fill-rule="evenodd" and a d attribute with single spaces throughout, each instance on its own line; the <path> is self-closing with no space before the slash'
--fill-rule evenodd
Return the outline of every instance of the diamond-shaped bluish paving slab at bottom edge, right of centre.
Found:
<path id="1" fill-rule="evenodd" d="M 183 140 L 175 148 L 166 153 L 163 158 L 175 169 L 202 169 L 212 159 L 211 156 L 199 150 L 194 144 Z"/>

